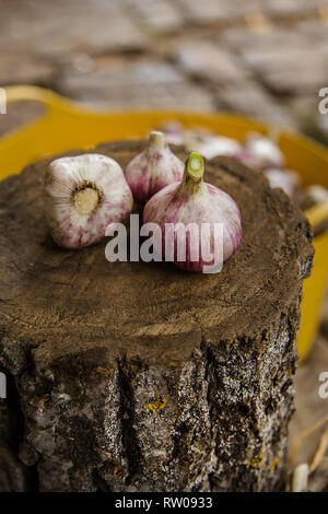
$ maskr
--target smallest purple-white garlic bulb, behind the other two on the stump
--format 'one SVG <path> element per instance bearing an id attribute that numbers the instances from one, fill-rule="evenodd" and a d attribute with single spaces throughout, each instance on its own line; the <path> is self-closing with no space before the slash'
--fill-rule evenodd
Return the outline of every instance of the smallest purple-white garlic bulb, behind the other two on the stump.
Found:
<path id="1" fill-rule="evenodd" d="M 144 203 L 155 192 L 181 179 L 184 163 L 169 150 L 163 132 L 153 131 L 143 152 L 128 164 L 126 179 L 134 200 Z"/>

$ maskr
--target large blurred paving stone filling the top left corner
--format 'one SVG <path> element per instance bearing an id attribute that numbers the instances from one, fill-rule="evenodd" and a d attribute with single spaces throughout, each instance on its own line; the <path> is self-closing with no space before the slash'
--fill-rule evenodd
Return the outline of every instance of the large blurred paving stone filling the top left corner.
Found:
<path id="1" fill-rule="evenodd" d="M 144 48 L 147 40 L 117 0 L 2 0 L 0 47 L 48 57 Z"/>

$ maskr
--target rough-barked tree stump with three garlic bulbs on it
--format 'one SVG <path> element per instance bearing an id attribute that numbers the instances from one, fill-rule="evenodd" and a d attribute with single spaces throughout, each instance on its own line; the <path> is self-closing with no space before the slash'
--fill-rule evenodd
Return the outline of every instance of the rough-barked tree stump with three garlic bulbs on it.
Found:
<path id="1" fill-rule="evenodd" d="M 126 166 L 141 148 L 95 151 Z M 40 491 L 281 488 L 302 280 L 313 258 L 301 211 L 258 172 L 216 159 L 206 180 L 237 201 L 244 229 L 220 273 L 109 264 L 107 242 L 73 252 L 51 241 L 46 165 L 0 186 L 0 364 L 14 377 L 19 457 L 33 483 Z"/>

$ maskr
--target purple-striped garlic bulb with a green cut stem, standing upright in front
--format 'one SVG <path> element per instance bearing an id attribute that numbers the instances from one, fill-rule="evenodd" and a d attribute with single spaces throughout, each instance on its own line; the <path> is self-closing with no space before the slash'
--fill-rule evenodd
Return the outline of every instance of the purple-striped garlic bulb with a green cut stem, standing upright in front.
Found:
<path id="1" fill-rule="evenodd" d="M 214 266 L 214 271 L 204 271 L 204 268 L 215 265 L 213 259 L 218 253 L 221 252 L 222 265 L 237 250 L 242 240 L 242 221 L 235 201 L 226 192 L 204 183 L 203 171 L 202 157 L 196 152 L 190 153 L 183 180 L 171 184 L 149 200 L 143 211 L 143 222 L 161 227 L 162 245 L 155 249 L 161 249 L 165 260 L 173 260 L 190 271 L 218 272 L 220 266 L 220 269 Z M 196 226 L 198 231 L 173 231 L 173 225 L 175 229 Z M 223 227 L 221 241 L 215 238 L 216 226 Z M 208 229 L 204 234 L 203 227 Z M 200 234 L 203 234 L 203 240 Z M 203 247 L 207 247 L 207 256 Z M 185 248 L 183 256 L 179 254 L 181 248 Z M 171 259 L 167 259 L 168 254 Z"/>

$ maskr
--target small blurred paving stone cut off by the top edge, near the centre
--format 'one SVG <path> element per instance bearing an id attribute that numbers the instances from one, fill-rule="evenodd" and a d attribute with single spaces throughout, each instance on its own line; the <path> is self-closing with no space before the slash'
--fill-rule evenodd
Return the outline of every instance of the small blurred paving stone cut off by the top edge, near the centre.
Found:
<path id="1" fill-rule="evenodd" d="M 184 17 L 176 3 L 169 0 L 125 0 L 142 24 L 154 33 L 169 33 L 181 28 Z"/>

